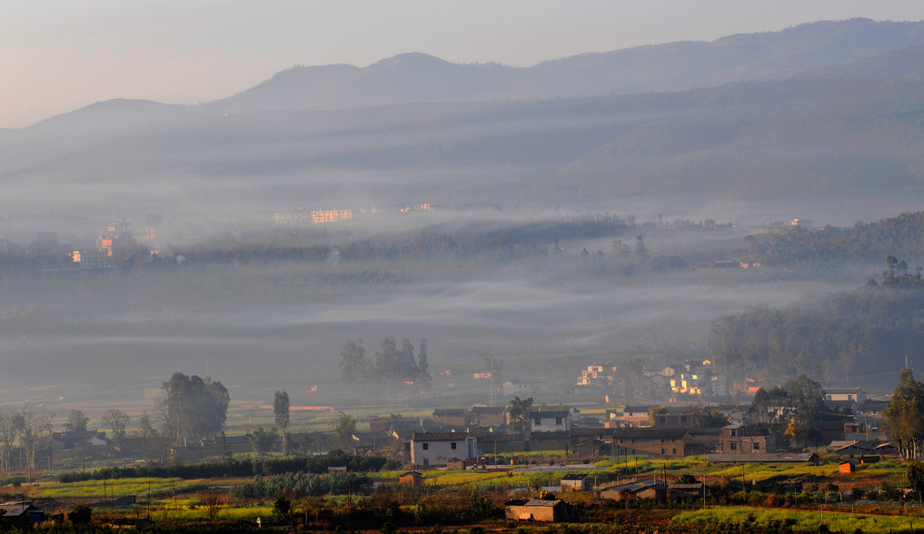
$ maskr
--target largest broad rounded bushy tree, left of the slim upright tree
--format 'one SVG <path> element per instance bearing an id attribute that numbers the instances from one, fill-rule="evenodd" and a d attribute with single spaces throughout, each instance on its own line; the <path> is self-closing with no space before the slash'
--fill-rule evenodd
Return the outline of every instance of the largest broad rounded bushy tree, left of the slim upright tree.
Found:
<path id="1" fill-rule="evenodd" d="M 212 438 L 225 427 L 231 399 L 222 382 L 177 372 L 162 389 L 167 396 L 160 409 L 173 443 Z"/>

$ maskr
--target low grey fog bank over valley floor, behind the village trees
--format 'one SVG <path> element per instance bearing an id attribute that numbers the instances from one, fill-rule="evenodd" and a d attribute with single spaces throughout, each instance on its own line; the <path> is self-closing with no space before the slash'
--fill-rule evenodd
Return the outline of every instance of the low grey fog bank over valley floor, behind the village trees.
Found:
<path id="1" fill-rule="evenodd" d="M 305 297 L 275 305 L 251 302 L 250 276 L 214 277 L 223 287 L 207 305 L 183 295 L 187 282 L 169 275 L 117 282 L 134 288 L 113 295 L 103 278 L 74 277 L 56 280 L 43 296 L 7 292 L 0 402 L 28 399 L 53 411 L 62 402 L 150 408 L 161 383 L 181 371 L 213 376 L 237 401 L 265 401 L 286 388 L 294 404 L 321 404 L 325 392 L 342 389 L 340 344 L 361 337 L 374 358 L 384 335 L 414 346 L 426 337 L 434 371 L 470 377 L 490 354 L 508 363 L 575 356 L 577 376 L 580 366 L 609 355 L 704 354 L 719 314 L 857 286 L 766 281 L 754 270 L 651 274 L 620 284 L 502 275 L 313 292 L 293 283 L 277 290 Z M 508 365 L 505 378 L 539 377 L 529 365 Z M 313 385 L 318 394 L 307 393 Z"/>

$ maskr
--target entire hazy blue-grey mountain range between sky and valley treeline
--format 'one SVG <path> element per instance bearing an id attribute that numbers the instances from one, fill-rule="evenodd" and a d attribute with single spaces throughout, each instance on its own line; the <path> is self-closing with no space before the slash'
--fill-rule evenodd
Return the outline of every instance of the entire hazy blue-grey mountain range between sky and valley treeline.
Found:
<path id="1" fill-rule="evenodd" d="M 924 200 L 918 34 L 856 19 L 523 69 L 399 55 L 290 69 L 200 106 L 97 103 L 0 131 L 0 212 L 641 196 L 789 211 L 876 198 L 894 212 Z M 700 82 L 718 86 L 651 90 Z M 593 94 L 538 98 L 567 91 Z"/>

